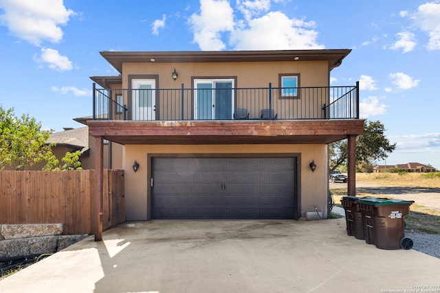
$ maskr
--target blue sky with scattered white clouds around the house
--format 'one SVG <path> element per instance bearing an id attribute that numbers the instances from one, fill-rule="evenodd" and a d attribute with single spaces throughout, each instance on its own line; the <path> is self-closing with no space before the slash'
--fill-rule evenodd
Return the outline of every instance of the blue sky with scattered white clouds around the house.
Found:
<path id="1" fill-rule="evenodd" d="M 91 115 L 89 76 L 117 74 L 99 51 L 353 49 L 331 83 L 360 81 L 386 163 L 440 168 L 440 1 L 0 0 L 0 44 L 0 104 L 56 131 Z"/>

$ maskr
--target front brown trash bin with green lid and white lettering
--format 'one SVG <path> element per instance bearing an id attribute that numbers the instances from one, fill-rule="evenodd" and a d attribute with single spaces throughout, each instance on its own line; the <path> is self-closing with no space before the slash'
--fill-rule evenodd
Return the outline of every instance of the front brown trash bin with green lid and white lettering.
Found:
<path id="1" fill-rule="evenodd" d="M 381 249 L 411 249 L 412 239 L 405 237 L 404 216 L 410 212 L 412 200 L 388 198 L 362 198 L 358 201 L 362 211 L 365 242 Z"/>

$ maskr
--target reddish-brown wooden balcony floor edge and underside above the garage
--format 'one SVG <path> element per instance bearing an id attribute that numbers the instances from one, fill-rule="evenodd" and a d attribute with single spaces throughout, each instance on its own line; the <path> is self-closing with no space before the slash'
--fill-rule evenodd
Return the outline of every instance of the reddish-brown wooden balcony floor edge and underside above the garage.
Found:
<path id="1" fill-rule="evenodd" d="M 364 120 L 87 121 L 89 134 L 120 144 L 310 144 L 362 134 Z"/>

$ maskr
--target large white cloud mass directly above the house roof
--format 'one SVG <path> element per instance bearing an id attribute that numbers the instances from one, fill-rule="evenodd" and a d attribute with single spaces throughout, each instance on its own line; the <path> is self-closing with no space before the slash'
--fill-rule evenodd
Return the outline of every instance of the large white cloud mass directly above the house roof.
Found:
<path id="1" fill-rule="evenodd" d="M 200 49 L 221 50 L 227 45 L 236 50 L 324 48 L 316 41 L 314 21 L 290 19 L 279 11 L 266 13 L 270 0 L 237 0 L 236 8 L 242 18 L 234 14 L 229 1 L 200 0 L 200 13 L 188 21 Z"/>

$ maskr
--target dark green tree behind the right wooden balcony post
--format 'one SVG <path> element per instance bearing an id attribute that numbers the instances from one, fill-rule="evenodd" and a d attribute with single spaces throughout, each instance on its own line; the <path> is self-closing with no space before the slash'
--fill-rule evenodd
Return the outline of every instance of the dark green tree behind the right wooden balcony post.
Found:
<path id="1" fill-rule="evenodd" d="M 371 161 L 386 159 L 393 152 L 396 143 L 391 144 L 385 137 L 385 128 L 380 121 L 365 121 L 364 133 L 356 137 L 356 163 L 368 165 Z M 347 139 L 330 145 L 331 171 L 339 165 L 347 164 Z"/>

